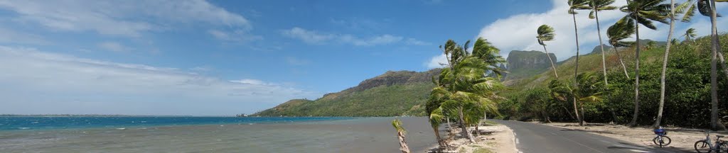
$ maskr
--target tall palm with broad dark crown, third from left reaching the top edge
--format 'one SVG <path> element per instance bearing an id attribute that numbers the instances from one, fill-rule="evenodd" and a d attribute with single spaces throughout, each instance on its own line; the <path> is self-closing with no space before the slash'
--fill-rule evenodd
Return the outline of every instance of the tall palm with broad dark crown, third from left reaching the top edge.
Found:
<path id="1" fill-rule="evenodd" d="M 670 4 L 661 4 L 665 0 L 627 0 L 627 5 L 620 7 L 620 11 L 627 13 L 625 17 L 627 20 L 635 20 L 635 34 L 636 34 L 636 53 L 635 53 L 635 110 L 632 116 L 630 126 L 634 127 L 637 125 L 637 117 L 639 117 L 639 25 L 644 25 L 646 28 L 656 30 L 652 24 L 652 21 L 662 22 L 667 24 L 666 20 L 668 15 L 668 8 Z"/>

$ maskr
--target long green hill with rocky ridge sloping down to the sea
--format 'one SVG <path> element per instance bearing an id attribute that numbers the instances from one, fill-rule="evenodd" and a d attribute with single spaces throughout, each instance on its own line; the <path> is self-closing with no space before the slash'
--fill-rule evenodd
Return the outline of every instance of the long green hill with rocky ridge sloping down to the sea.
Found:
<path id="1" fill-rule="evenodd" d="M 316 100 L 293 99 L 252 116 L 424 115 L 424 104 L 435 87 L 432 77 L 441 70 L 387 71 L 344 91 Z"/>

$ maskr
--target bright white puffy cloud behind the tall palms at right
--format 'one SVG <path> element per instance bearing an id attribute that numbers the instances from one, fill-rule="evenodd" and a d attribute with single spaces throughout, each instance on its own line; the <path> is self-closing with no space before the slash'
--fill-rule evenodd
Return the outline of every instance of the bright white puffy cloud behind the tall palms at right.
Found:
<path id="1" fill-rule="evenodd" d="M 616 1 L 613 6 L 623 6 L 625 1 Z M 718 6 L 718 9 L 724 10 L 725 4 Z M 505 17 L 483 27 L 478 34 L 479 37 L 488 39 L 494 46 L 502 50 L 504 57 L 512 50 L 536 50 L 543 51 L 536 41 L 536 29 L 538 26 L 546 24 L 555 29 L 555 40 L 547 41 L 547 49 L 549 52 L 556 54 L 558 60 L 564 60 L 576 54 L 576 46 L 574 41 L 574 22 L 572 16 L 566 13 L 568 6 L 566 1 L 553 0 L 553 8 L 544 13 L 521 14 Z M 719 10 L 720 11 L 720 10 Z M 579 44 L 582 54 L 591 51 L 594 46 L 598 46 L 598 36 L 596 31 L 595 20 L 588 19 L 588 11 L 579 11 L 577 15 L 577 26 L 579 30 Z M 599 12 L 599 22 L 601 24 L 602 39 L 606 44 L 606 29 L 609 28 L 616 20 L 619 20 L 625 14 L 619 10 Z M 719 17 L 718 25 L 728 25 L 728 20 Z M 669 25 L 660 22 L 654 22 L 658 30 L 649 30 L 641 26 L 640 38 L 652 39 L 657 41 L 665 41 L 667 38 Z M 698 34 L 707 35 L 710 33 L 710 22 L 707 17 L 693 17 L 693 22 L 678 22 L 675 35 L 684 32 L 687 28 L 705 29 Z"/>

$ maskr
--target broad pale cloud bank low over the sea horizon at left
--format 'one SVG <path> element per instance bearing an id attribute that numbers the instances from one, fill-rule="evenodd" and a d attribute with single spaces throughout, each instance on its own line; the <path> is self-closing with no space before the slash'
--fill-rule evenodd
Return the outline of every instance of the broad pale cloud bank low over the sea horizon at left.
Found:
<path id="1" fill-rule="evenodd" d="M 232 115 L 320 94 L 285 83 L 197 75 L 0 46 L 0 112 Z"/>

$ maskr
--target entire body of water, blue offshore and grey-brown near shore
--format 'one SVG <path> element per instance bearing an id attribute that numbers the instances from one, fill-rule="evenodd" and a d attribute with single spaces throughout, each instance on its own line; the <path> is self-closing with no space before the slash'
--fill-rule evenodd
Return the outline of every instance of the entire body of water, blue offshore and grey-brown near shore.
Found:
<path id="1" fill-rule="evenodd" d="M 426 117 L 397 117 L 415 152 Z M 0 152 L 397 152 L 395 117 L 0 117 Z"/>

